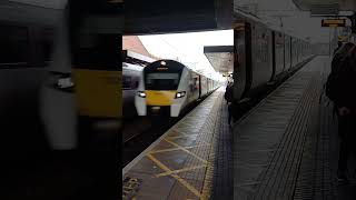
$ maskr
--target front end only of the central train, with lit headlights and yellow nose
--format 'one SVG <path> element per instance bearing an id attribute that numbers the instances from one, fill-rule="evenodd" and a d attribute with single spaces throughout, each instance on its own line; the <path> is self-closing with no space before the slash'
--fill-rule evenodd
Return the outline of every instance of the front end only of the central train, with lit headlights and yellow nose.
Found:
<path id="1" fill-rule="evenodd" d="M 135 106 L 139 116 L 178 117 L 187 99 L 186 67 L 174 60 L 158 60 L 147 66 L 140 79 Z"/>

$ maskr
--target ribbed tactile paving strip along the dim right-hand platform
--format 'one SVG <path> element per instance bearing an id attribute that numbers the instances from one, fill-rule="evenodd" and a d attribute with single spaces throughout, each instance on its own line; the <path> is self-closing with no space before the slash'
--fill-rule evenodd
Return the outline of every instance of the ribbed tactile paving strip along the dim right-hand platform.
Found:
<path id="1" fill-rule="evenodd" d="M 316 78 L 310 78 L 304 72 L 299 74 L 312 79 L 312 81 L 295 110 L 267 171 L 260 178 L 261 183 L 253 199 L 275 200 L 291 199 L 293 197 L 313 100 L 318 97 Z"/>

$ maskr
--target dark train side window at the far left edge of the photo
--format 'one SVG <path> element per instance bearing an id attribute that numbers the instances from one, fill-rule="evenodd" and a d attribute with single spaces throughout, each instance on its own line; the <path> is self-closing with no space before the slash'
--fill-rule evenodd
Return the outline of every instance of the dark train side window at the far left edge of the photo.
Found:
<path id="1" fill-rule="evenodd" d="M 0 67 L 29 62 L 29 38 L 26 27 L 0 24 Z"/>

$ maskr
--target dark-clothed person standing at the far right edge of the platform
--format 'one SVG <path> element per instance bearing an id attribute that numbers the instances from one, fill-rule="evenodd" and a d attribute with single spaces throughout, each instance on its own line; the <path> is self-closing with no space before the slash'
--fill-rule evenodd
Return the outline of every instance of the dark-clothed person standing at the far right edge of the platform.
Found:
<path id="1" fill-rule="evenodd" d="M 326 82 L 326 96 L 334 102 L 340 138 L 337 178 L 348 182 L 347 162 L 356 143 L 356 46 L 347 42 L 336 51 Z"/>

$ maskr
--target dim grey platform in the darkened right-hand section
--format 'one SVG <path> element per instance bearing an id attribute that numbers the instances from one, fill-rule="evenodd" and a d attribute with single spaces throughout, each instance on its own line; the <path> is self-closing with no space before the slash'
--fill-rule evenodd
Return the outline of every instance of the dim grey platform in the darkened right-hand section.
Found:
<path id="1" fill-rule="evenodd" d="M 353 170 L 349 184 L 336 180 L 329 70 L 329 57 L 314 58 L 234 124 L 235 200 L 356 198 Z"/>

